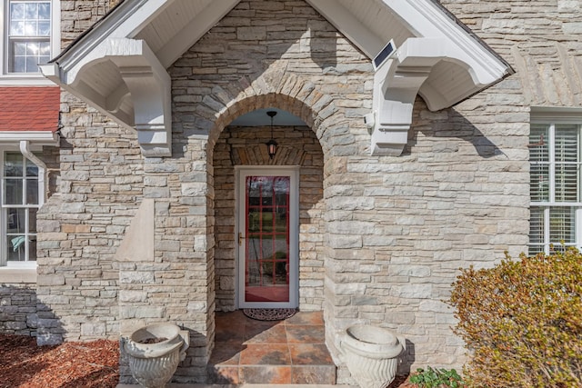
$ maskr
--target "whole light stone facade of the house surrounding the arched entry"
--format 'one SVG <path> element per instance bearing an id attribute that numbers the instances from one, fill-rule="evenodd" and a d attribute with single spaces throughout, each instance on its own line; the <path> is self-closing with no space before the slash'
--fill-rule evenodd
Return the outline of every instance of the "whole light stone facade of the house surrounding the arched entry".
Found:
<path id="1" fill-rule="evenodd" d="M 106 11 L 88 3 L 62 2 L 64 43 Z M 301 0 L 242 1 L 169 68 L 172 157 L 142 157 L 135 132 L 64 93 L 59 176 L 38 216 L 38 342 L 171 321 L 192 336 L 176 381 L 204 382 L 214 312 L 235 308 L 233 167 L 272 164 L 266 128 L 228 124 L 275 106 L 307 125 L 276 127 L 274 164 L 301 165 L 299 307 L 324 310 L 338 383 L 352 323 L 406 337 L 403 368 L 462 364 L 443 301 L 459 267 L 526 250 L 529 108 L 580 104 L 582 4 L 441 3 L 517 74 L 436 113 L 417 98 L 398 157 L 369 155 L 369 59 Z M 144 199 L 153 257 L 118 260 Z"/>

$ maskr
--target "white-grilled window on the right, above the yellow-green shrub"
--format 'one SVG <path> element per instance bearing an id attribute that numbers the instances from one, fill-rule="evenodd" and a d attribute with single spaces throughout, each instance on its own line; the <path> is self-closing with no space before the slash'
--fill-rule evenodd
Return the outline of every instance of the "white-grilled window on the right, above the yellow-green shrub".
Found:
<path id="1" fill-rule="evenodd" d="M 529 254 L 549 254 L 582 242 L 581 124 L 560 117 L 531 124 Z"/>

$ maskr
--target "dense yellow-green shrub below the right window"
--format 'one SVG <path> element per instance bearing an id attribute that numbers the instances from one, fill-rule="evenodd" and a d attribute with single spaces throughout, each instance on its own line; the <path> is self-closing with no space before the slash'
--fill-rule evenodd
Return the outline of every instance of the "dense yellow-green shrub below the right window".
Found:
<path id="1" fill-rule="evenodd" d="M 582 387 L 582 254 L 462 270 L 450 303 L 476 387 Z"/>

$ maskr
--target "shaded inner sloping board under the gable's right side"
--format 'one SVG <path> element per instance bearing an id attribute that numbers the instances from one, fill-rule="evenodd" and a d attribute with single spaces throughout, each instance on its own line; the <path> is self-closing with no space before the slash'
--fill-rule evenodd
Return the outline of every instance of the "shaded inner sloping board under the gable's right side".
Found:
<path id="1" fill-rule="evenodd" d="M 346 38 L 362 50 L 368 58 L 372 59 L 378 54 L 377 47 L 386 45 L 386 42 L 366 28 L 366 25 L 357 21 L 354 15 L 337 0 L 306 0 L 306 2 L 326 17 L 338 31 L 346 35 Z"/>

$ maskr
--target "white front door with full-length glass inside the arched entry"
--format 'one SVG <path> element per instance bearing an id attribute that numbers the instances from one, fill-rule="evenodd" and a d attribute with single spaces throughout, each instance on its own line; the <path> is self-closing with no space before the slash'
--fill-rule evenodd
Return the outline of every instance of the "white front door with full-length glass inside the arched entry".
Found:
<path id="1" fill-rule="evenodd" d="M 237 169 L 238 307 L 297 307 L 297 168 Z"/>

